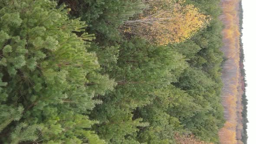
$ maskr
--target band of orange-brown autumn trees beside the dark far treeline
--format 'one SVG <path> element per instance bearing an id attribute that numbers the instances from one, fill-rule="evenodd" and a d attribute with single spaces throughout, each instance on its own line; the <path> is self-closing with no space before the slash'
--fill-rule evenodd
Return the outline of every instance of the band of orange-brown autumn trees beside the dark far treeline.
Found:
<path id="1" fill-rule="evenodd" d="M 223 65 L 223 106 L 226 124 L 219 131 L 221 144 L 241 144 L 239 139 L 241 139 L 241 131 L 243 129 L 239 2 L 240 0 L 221 0 L 223 15 L 220 16 L 220 19 L 225 24 L 222 50 L 228 58 Z"/>

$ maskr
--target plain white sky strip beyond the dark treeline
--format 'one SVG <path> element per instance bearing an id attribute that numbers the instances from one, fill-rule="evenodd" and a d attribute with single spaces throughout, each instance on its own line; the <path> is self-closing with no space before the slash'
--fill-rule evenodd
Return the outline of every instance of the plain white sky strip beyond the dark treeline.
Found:
<path id="1" fill-rule="evenodd" d="M 256 144 L 256 0 L 242 0 L 243 3 L 243 49 L 248 86 L 248 144 Z"/>

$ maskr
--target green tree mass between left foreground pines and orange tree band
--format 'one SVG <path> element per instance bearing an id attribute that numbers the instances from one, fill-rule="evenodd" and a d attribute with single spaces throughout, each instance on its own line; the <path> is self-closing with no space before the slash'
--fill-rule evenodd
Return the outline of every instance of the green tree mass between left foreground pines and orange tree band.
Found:
<path id="1" fill-rule="evenodd" d="M 192 39 L 166 47 L 150 46 L 143 39 L 117 33 L 124 20 L 143 10 L 131 9 L 138 5 L 137 0 L 62 2 L 71 7 L 71 16 L 81 16 L 89 23 L 89 31 L 97 33 L 97 43 L 89 51 L 97 53 L 101 73 L 118 84 L 113 92 L 98 95 L 103 104 L 90 115 L 100 121 L 93 127 L 100 137 L 117 144 L 174 143 L 174 133 L 182 131 L 205 141 L 218 141 L 217 131 L 224 123 L 218 1 L 188 0 L 212 20 Z M 149 125 L 140 126 L 140 121 Z"/>

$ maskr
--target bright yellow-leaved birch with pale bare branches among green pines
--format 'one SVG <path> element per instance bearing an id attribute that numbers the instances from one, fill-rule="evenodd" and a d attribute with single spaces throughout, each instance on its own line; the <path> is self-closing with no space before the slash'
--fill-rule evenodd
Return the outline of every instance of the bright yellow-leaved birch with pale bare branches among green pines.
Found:
<path id="1" fill-rule="evenodd" d="M 182 42 L 206 26 L 210 20 L 210 16 L 184 2 L 150 0 L 147 2 L 150 8 L 138 20 L 128 20 L 125 24 L 131 27 L 132 33 L 157 45 Z"/>

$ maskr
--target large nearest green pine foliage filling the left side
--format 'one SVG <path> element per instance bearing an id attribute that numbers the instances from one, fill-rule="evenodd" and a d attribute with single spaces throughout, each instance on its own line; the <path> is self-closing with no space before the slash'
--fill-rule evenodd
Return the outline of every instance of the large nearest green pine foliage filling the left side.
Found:
<path id="1" fill-rule="evenodd" d="M 115 82 L 87 52 L 93 35 L 83 32 L 85 22 L 69 20 L 69 9 L 56 6 L 1 0 L 1 143 L 105 143 L 89 130 L 97 121 L 87 115 L 101 103 L 93 97 Z"/>

